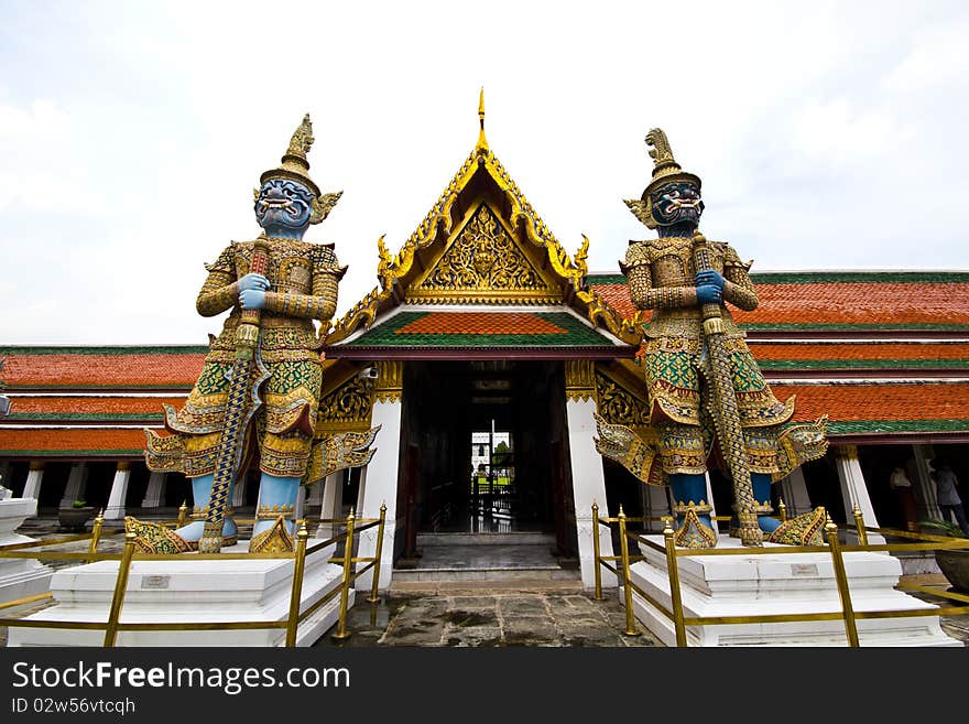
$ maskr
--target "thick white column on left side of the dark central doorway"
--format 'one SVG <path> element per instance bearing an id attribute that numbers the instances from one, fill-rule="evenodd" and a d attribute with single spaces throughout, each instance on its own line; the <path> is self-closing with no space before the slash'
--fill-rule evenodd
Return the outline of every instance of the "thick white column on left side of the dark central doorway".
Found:
<path id="1" fill-rule="evenodd" d="M 382 372 L 383 370 L 381 370 Z M 367 476 L 360 476 L 360 500 L 356 515 L 377 518 L 380 506 L 386 505 L 386 523 L 383 530 L 383 549 L 380 560 L 380 588 L 390 586 L 393 573 L 394 533 L 398 523 L 398 468 L 401 456 L 401 399 L 390 396 L 386 401 L 373 404 L 371 425 L 381 425 L 373 445 L 375 451 L 367 465 Z M 358 555 L 368 558 L 377 553 L 377 526 L 360 533 Z M 362 568 L 362 565 L 361 565 Z M 373 569 L 357 579 L 358 590 L 368 590 L 373 581 Z"/>

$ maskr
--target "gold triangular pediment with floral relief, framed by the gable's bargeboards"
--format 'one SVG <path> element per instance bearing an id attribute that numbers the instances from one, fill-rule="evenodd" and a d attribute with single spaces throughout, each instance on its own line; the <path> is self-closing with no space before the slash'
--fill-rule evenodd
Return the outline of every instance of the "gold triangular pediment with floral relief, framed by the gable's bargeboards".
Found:
<path id="1" fill-rule="evenodd" d="M 562 300 L 562 278 L 541 270 L 507 219 L 486 202 L 471 206 L 429 268 L 405 292 L 410 302 L 545 303 Z"/>

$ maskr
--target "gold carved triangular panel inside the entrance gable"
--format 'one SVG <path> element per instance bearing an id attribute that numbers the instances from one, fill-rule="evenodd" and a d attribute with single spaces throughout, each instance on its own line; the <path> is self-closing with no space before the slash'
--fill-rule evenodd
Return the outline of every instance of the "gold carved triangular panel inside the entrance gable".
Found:
<path id="1" fill-rule="evenodd" d="M 476 301 L 499 301 L 493 299 L 496 294 L 511 294 L 513 301 L 525 296 L 540 298 L 533 301 L 559 299 L 487 204 L 478 206 L 424 280 L 411 289 L 407 300 L 435 301 L 440 293 L 447 299 Z"/>

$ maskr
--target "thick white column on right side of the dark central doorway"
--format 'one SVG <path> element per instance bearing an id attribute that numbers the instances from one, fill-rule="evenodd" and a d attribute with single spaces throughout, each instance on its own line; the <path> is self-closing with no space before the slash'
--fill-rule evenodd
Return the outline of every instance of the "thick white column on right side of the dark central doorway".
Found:
<path id="1" fill-rule="evenodd" d="M 578 398 L 578 395 L 570 397 Z M 599 554 L 612 555 L 612 537 L 609 529 L 598 526 L 592 530 L 592 504 L 599 506 L 599 517 L 608 518 L 609 506 L 606 503 L 606 475 L 602 471 L 602 457 L 596 451 L 592 439 L 597 434 L 596 402 L 592 399 L 569 399 L 565 403 L 568 423 L 568 452 L 571 462 L 571 489 L 575 499 L 576 529 L 578 532 L 579 569 L 583 585 L 591 588 L 596 585 L 596 558 L 592 548 L 592 536 L 599 536 Z M 602 585 L 614 587 L 616 576 L 602 569 Z"/>

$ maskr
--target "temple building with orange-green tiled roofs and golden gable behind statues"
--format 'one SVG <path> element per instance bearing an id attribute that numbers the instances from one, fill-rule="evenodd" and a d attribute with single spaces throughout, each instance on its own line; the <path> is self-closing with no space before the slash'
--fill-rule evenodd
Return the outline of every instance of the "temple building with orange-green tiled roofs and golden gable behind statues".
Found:
<path id="1" fill-rule="evenodd" d="M 570 253 L 559 244 L 483 122 L 411 237 L 396 252 L 378 242 L 379 285 L 326 338 L 318 422 L 381 425 L 377 452 L 308 490 L 304 510 L 375 515 L 385 504 L 382 582 L 420 558 L 418 534 L 501 519 L 554 537 L 589 584 L 594 503 L 600 515 L 620 505 L 630 516 L 668 515 L 664 488 L 595 447 L 595 412 L 646 424 L 634 357 L 649 313 L 633 309 L 618 270 L 589 271 L 588 246 Z M 827 455 L 776 484 L 775 505 L 788 515 L 823 505 L 839 523 L 856 507 L 870 526 L 940 518 L 932 461 L 947 457 L 969 480 L 969 272 L 751 278 L 760 305 L 733 315 L 767 381 L 781 399 L 797 396 L 795 420 L 828 418 Z M 109 520 L 190 499 L 181 475 L 149 473 L 143 429 L 162 428 L 163 403 L 184 403 L 206 352 L 0 347 L 12 403 L 0 418 L 3 483 L 37 498 L 42 514 L 84 499 Z M 895 467 L 912 482 L 915 519 L 890 487 Z M 716 512 L 727 514 L 729 485 L 710 475 Z M 253 506 L 255 487 L 243 478 L 233 505 Z"/>

